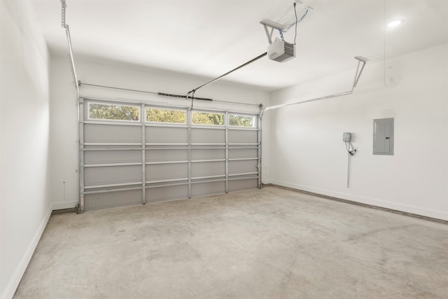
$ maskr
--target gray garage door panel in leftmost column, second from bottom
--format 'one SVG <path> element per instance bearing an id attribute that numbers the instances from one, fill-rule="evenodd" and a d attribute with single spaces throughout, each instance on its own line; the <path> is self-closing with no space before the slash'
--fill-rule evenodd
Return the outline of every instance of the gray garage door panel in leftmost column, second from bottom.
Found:
<path id="1" fill-rule="evenodd" d="M 141 166 L 85 167 L 85 186 L 141 182 Z"/>

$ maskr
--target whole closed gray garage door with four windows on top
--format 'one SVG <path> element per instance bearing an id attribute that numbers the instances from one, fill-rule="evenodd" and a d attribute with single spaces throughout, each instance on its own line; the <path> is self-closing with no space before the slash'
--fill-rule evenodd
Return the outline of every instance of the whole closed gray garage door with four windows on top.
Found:
<path id="1" fill-rule="evenodd" d="M 258 116 L 80 100 L 81 211 L 258 188 Z"/>

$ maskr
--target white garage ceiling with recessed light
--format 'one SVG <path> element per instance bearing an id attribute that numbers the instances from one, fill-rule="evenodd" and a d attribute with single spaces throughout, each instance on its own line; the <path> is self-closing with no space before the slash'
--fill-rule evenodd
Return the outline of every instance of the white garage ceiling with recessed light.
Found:
<path id="1" fill-rule="evenodd" d="M 263 57 L 226 81 L 277 90 L 379 59 L 448 42 L 448 0 L 311 0 L 297 27 L 297 57 Z M 73 53 L 216 78 L 267 50 L 260 20 L 294 22 L 293 0 L 66 0 Z M 52 53 L 68 53 L 61 3 L 34 0 Z M 385 23 L 404 20 L 400 27 Z M 274 32 L 278 36 L 278 32 Z M 294 28 L 285 34 L 293 42 Z M 82 80 L 82 78 L 80 78 Z M 204 82 L 205 83 L 205 82 Z M 194 87 L 192 87 L 194 88 Z"/>

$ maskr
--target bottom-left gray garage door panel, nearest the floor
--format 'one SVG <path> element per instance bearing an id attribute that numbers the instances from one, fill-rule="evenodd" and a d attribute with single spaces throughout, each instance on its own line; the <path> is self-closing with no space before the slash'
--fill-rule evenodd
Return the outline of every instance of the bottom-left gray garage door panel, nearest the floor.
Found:
<path id="1" fill-rule="evenodd" d="M 85 211 L 111 209 L 141 204 L 141 190 L 116 191 L 84 195 Z"/>

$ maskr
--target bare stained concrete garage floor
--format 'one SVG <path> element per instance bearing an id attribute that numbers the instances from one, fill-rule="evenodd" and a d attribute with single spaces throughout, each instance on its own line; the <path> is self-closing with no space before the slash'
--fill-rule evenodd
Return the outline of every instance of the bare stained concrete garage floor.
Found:
<path id="1" fill-rule="evenodd" d="M 448 298 L 448 225 L 274 187 L 53 215 L 15 298 Z"/>

